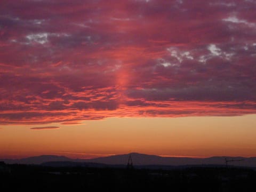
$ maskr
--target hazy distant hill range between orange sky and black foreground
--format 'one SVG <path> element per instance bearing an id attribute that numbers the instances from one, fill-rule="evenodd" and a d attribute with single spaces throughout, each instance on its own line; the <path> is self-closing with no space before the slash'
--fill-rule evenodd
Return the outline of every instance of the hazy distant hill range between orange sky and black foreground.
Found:
<path id="1" fill-rule="evenodd" d="M 209 158 L 189 158 L 189 157 L 161 157 L 156 155 L 146 155 L 131 153 L 134 166 L 163 165 L 163 166 L 185 166 L 185 165 L 225 165 L 225 158 L 244 159 L 239 162 L 229 162 L 229 165 L 256 167 L 256 157 L 209 157 Z M 126 165 L 129 154 L 99 157 L 93 159 L 71 159 L 65 156 L 42 155 L 22 159 L 0 159 L 9 164 L 42 164 L 46 162 L 82 162 L 108 165 Z M 56 164 L 56 163 L 55 163 Z M 100 165 L 102 166 L 102 165 Z"/>

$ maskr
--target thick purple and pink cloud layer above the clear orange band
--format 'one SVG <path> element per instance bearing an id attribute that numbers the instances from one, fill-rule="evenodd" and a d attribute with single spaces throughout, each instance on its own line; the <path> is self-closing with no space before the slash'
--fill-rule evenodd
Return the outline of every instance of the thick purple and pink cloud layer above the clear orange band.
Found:
<path id="1" fill-rule="evenodd" d="M 255 1 L 1 1 L 0 123 L 256 113 Z"/>

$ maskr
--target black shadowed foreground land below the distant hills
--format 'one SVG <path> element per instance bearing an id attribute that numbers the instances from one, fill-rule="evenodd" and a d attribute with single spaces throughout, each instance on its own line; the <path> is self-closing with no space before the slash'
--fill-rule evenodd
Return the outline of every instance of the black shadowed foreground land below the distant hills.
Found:
<path id="1" fill-rule="evenodd" d="M 0 191 L 256 191 L 256 171 L 235 167 L 147 170 L 4 165 Z"/>

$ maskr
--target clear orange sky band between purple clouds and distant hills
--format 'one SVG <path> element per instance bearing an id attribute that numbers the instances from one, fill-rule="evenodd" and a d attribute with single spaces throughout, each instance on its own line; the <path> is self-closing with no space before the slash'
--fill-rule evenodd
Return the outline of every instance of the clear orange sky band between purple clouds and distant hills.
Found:
<path id="1" fill-rule="evenodd" d="M 94 158 L 131 152 L 160 156 L 256 156 L 256 115 L 106 118 L 82 124 L 6 125 L 0 158 Z M 33 127 L 44 129 L 31 130 Z M 60 129 L 47 129 L 60 127 Z"/>

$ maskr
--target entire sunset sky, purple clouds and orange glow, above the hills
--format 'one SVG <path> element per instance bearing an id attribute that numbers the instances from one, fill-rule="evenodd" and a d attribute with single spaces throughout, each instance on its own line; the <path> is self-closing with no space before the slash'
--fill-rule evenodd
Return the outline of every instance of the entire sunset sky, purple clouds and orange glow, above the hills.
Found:
<path id="1" fill-rule="evenodd" d="M 0 157 L 256 156 L 256 1 L 0 2 Z"/>

